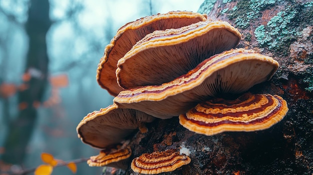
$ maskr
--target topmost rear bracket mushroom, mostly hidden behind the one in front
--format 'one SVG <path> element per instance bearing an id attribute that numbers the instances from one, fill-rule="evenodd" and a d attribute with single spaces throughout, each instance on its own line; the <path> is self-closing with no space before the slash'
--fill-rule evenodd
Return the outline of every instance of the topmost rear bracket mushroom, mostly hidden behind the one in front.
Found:
<path id="1" fill-rule="evenodd" d="M 118 29 L 110 44 L 104 49 L 104 55 L 97 68 L 96 79 L 98 84 L 111 95 L 116 96 L 122 90 L 116 82 L 117 60 L 123 57 L 137 41 L 154 30 L 179 28 L 204 20 L 206 20 L 205 14 L 191 11 L 170 11 L 164 14 L 146 16 L 125 24 Z"/>

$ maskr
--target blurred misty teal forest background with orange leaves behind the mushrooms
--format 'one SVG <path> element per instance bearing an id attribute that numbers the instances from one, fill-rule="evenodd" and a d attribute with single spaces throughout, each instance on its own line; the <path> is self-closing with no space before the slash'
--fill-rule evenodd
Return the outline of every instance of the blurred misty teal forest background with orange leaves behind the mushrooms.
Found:
<path id="1" fill-rule="evenodd" d="M 0 175 L 37 167 L 43 152 L 64 161 L 98 154 L 75 128 L 87 113 L 112 104 L 95 80 L 105 45 L 126 22 L 197 11 L 201 2 L 0 0 Z M 81 163 L 76 174 L 101 170 Z M 60 174 L 72 173 L 53 170 Z"/>

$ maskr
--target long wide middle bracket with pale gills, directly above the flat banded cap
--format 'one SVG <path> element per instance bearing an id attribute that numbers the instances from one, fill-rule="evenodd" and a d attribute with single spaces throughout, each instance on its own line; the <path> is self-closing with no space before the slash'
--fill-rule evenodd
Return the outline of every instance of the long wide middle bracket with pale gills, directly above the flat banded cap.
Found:
<path id="1" fill-rule="evenodd" d="M 278 66 L 271 57 L 252 50 L 224 51 L 173 81 L 121 91 L 113 101 L 119 108 L 137 109 L 167 119 L 186 113 L 198 102 L 211 97 L 245 92 L 269 80 Z"/>

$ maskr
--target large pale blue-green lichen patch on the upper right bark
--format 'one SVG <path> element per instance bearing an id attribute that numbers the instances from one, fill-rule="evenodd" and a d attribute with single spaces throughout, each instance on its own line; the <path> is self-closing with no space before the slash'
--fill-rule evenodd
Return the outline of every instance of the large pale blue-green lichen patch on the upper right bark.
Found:
<path id="1" fill-rule="evenodd" d="M 254 30 L 258 44 L 287 54 L 290 44 L 301 36 L 301 29 L 312 24 L 312 4 L 312 1 L 303 4 L 294 2 L 285 10 L 279 11 L 266 25 L 258 26 Z"/>

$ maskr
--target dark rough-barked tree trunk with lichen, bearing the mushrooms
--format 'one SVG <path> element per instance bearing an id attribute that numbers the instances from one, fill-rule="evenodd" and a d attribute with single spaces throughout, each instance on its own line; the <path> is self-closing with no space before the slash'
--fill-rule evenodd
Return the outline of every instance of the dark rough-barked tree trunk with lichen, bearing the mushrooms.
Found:
<path id="1" fill-rule="evenodd" d="M 280 64 L 253 93 L 277 94 L 288 104 L 285 118 L 257 132 L 204 136 L 176 117 L 147 125 L 131 140 L 132 157 L 184 146 L 191 163 L 160 175 L 312 175 L 313 173 L 313 1 L 205 0 L 208 18 L 225 20 L 242 34 L 237 47 L 272 56 Z M 134 174 L 130 168 L 119 175 Z"/>

